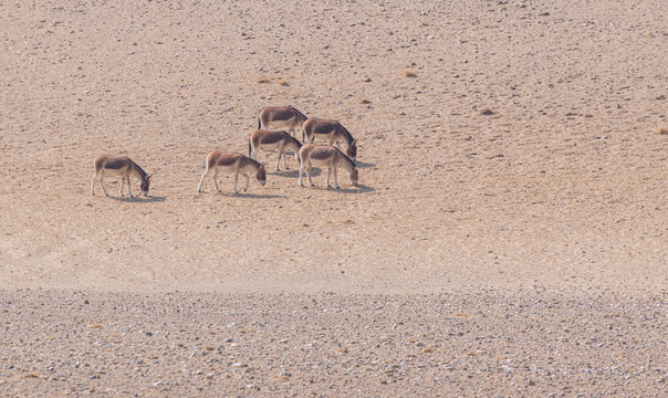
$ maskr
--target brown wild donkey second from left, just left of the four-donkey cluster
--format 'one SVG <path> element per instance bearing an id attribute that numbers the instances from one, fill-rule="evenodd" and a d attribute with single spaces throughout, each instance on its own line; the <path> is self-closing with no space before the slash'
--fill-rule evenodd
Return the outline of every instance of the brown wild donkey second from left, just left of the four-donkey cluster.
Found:
<path id="1" fill-rule="evenodd" d="M 239 193 L 237 192 L 237 180 L 239 179 L 239 175 L 246 176 L 246 187 L 243 188 L 243 191 L 248 190 L 250 172 L 255 174 L 255 178 L 262 186 L 264 186 L 267 182 L 267 171 L 264 170 L 264 165 L 261 165 L 257 160 L 253 160 L 241 154 L 227 154 L 221 153 L 220 150 L 215 150 L 207 155 L 207 170 L 201 175 L 199 186 L 197 186 L 197 191 L 201 192 L 201 185 L 205 181 L 205 178 L 209 175 L 212 175 L 211 178 L 213 179 L 213 186 L 216 187 L 216 190 L 220 192 L 217 180 L 219 172 L 234 175 L 234 193 Z"/>

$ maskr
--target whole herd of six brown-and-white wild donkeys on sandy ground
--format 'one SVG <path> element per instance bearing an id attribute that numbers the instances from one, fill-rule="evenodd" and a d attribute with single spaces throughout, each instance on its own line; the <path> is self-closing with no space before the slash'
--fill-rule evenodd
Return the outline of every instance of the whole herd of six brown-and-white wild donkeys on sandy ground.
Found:
<path id="1" fill-rule="evenodd" d="M 286 132 L 269 129 L 269 128 L 284 128 L 288 127 Z M 295 138 L 295 132 L 302 130 L 302 144 Z M 315 139 L 326 140 L 330 145 L 315 145 Z M 333 146 L 334 143 L 338 145 L 340 142 L 346 143 L 346 153 L 344 154 L 341 149 Z M 305 171 L 309 184 L 313 187 L 311 180 L 311 168 L 313 166 L 323 167 L 327 169 L 325 182 L 330 187 L 330 176 L 334 175 L 334 187 L 340 189 L 338 182 L 336 181 L 336 168 L 343 167 L 351 182 L 357 186 L 358 172 L 357 166 L 355 165 L 355 158 L 357 157 L 357 146 L 355 145 L 356 139 L 353 138 L 351 133 L 336 121 L 320 119 L 320 118 L 307 118 L 303 113 L 295 109 L 292 106 L 285 107 L 264 107 L 260 111 L 258 116 L 258 130 L 251 134 L 248 143 L 248 156 L 236 154 L 236 153 L 222 153 L 215 150 L 207 155 L 207 169 L 199 180 L 197 191 L 201 192 L 201 185 L 205 178 L 211 176 L 213 179 L 213 186 L 216 190 L 220 192 L 218 188 L 218 174 L 234 175 L 234 193 L 237 192 L 237 180 L 239 175 L 246 176 L 246 187 L 243 190 L 248 190 L 248 184 L 250 181 L 249 174 L 254 172 L 255 178 L 263 186 L 267 181 L 267 172 L 264 170 L 264 164 L 260 164 L 257 159 L 258 149 L 279 150 L 279 158 L 276 159 L 276 171 L 279 169 L 279 163 L 283 157 L 283 167 L 288 168 L 285 163 L 285 149 L 291 149 L 295 154 L 295 159 L 300 163 L 300 176 L 298 184 L 302 184 L 302 175 Z M 150 176 L 147 175 L 137 164 L 124 156 L 111 156 L 100 155 L 93 161 L 95 167 L 95 174 L 93 175 L 93 181 L 91 184 L 91 195 L 95 195 L 95 180 L 100 182 L 100 188 L 105 196 L 108 196 L 104 186 L 102 185 L 102 178 L 104 175 L 121 176 L 121 189 L 119 195 L 123 196 L 123 186 L 127 185 L 127 193 L 133 197 L 129 188 L 129 177 L 134 176 L 142 182 L 139 188 L 142 195 L 148 195 L 148 187 L 150 185 Z"/>

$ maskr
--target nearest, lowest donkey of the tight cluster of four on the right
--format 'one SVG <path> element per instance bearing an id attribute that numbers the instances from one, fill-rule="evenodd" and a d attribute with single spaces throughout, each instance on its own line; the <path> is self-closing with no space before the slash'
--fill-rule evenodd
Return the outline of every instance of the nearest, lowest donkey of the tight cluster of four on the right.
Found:
<path id="1" fill-rule="evenodd" d="M 314 186 L 313 181 L 311 180 L 311 168 L 313 166 L 327 168 L 327 175 L 325 178 L 327 187 L 331 187 L 330 175 L 334 174 L 334 187 L 340 189 L 338 182 L 336 181 L 336 168 L 338 166 L 342 166 L 346 170 L 351 182 L 355 187 L 357 186 L 359 174 L 357 171 L 355 161 L 336 147 L 315 144 L 304 144 L 304 146 L 302 146 L 300 149 L 300 178 L 298 180 L 300 186 L 303 187 L 303 171 L 306 171 L 306 178 L 311 187 Z"/>

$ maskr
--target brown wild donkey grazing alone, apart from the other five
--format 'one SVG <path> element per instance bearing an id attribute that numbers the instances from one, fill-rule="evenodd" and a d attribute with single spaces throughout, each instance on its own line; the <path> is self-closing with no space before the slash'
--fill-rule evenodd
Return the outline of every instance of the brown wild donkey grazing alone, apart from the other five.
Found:
<path id="1" fill-rule="evenodd" d="M 95 174 L 93 175 L 93 181 L 91 182 L 91 195 L 95 195 L 95 179 L 97 179 L 100 182 L 100 188 L 102 188 L 102 192 L 104 196 L 108 196 L 104 189 L 104 185 L 102 185 L 102 178 L 104 175 L 121 176 L 121 189 L 118 192 L 121 196 L 123 196 L 123 185 L 127 184 L 127 195 L 133 198 L 133 192 L 129 190 L 129 176 L 134 176 L 135 178 L 142 180 L 139 184 L 142 195 L 148 195 L 150 176 L 146 175 L 146 172 L 139 166 L 137 166 L 136 163 L 132 161 L 131 158 L 126 156 L 100 155 L 95 158 L 95 160 L 93 160 L 93 167 L 95 168 Z"/>

